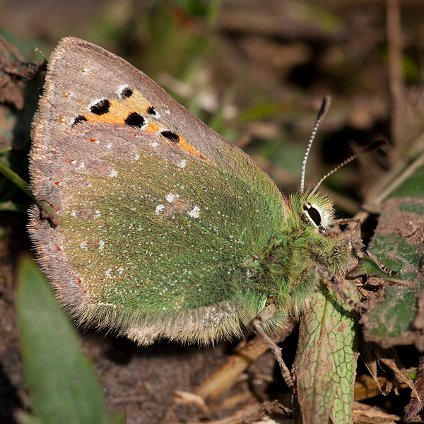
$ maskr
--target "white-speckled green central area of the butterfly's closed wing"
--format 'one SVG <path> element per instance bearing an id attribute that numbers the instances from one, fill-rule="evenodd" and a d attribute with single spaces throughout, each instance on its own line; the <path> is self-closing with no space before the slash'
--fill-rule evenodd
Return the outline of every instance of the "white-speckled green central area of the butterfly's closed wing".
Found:
<path id="1" fill-rule="evenodd" d="M 230 302 L 238 305 L 230 331 L 240 334 L 266 303 L 261 271 L 248 264 L 283 222 L 283 197 L 245 155 L 237 165 L 254 170 L 254 181 L 182 158 L 183 168 L 141 151 L 112 163 L 113 177 L 85 176 L 61 211 L 66 261 L 90 305 L 120 310 L 118 320 L 143 325 L 142 317 L 159 322 Z"/>

